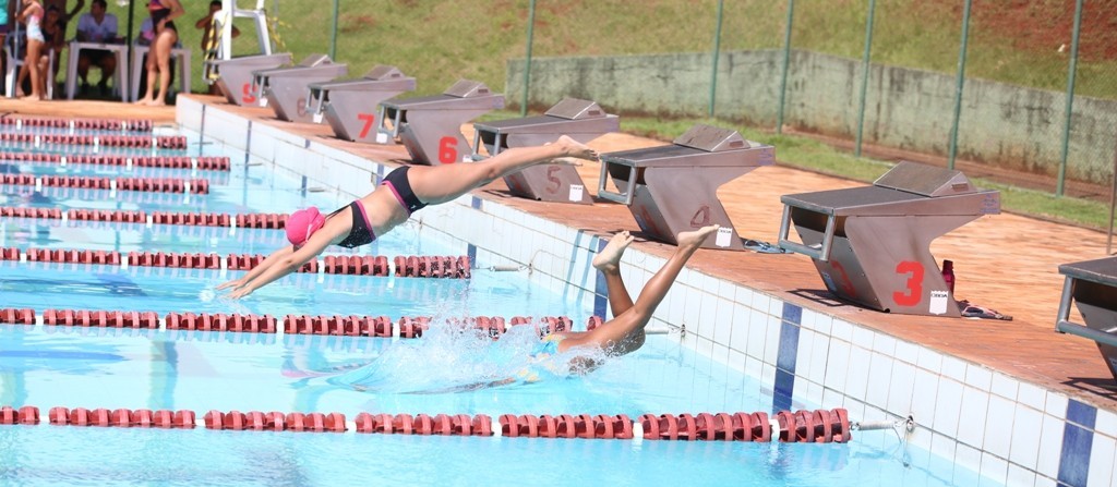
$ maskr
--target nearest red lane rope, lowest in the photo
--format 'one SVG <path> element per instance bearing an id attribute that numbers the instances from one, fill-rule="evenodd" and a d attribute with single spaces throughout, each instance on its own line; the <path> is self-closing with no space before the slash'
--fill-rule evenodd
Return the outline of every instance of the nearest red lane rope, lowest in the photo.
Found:
<path id="1" fill-rule="evenodd" d="M 646 440 L 770 441 L 781 442 L 847 442 L 852 426 L 844 409 L 779 411 L 780 429 L 770 435 L 768 416 L 764 412 L 682 415 L 641 415 L 633 422 L 626 415 L 500 415 L 494 421 L 486 415 L 386 415 L 361 412 L 354 421 L 359 434 L 493 436 L 527 438 L 634 439 L 634 425 Z M 97 426 L 118 428 L 194 428 L 195 415 L 190 410 L 104 408 L 73 410 L 50 408 L 51 425 Z M 0 407 L 0 425 L 38 425 L 39 409 L 25 406 L 18 410 Z M 206 429 L 260 431 L 345 432 L 349 426 L 340 412 L 241 412 L 210 410 L 202 417 Z M 760 432 L 764 429 L 763 432 Z"/>

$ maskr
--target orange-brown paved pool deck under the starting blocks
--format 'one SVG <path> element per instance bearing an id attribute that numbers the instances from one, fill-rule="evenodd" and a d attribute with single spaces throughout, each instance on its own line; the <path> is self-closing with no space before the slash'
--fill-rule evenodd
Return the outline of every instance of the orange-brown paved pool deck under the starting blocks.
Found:
<path id="1" fill-rule="evenodd" d="M 222 109 L 254 123 L 281 127 L 369 159 L 405 162 L 409 158 L 402 146 L 342 142 L 325 125 L 286 123 L 276 119 L 270 109 L 232 107 L 217 97 L 192 97 L 221 105 Z M 99 101 L 4 100 L 0 113 L 8 111 L 23 116 L 147 118 L 156 124 L 174 121 L 174 107 Z M 471 140 L 471 137 L 467 136 L 467 139 Z M 663 144 L 611 134 L 590 145 L 604 153 Z M 780 148 L 775 149 L 779 160 Z M 596 164 L 579 168 L 586 187 L 594 194 L 599 172 Z M 774 243 L 783 210 L 781 195 L 859 186 L 865 184 L 776 165 L 761 167 L 725 184 L 718 196 L 738 234 Z M 476 194 L 600 235 L 621 230 L 639 231 L 629 210 L 615 203 L 599 202 L 589 207 L 535 202 L 510 195 L 500 181 L 478 189 Z M 633 245 L 660 256 L 668 255 L 672 249 L 640 238 L 639 234 Z M 937 238 L 932 244 L 932 253 L 938 260 L 954 261 L 956 296 L 1012 315 L 1013 321 L 889 314 L 838 302 L 829 298 L 811 260 L 799 254 L 703 250 L 690 261 L 690 266 L 780 300 L 860 323 L 896 339 L 984 364 L 1005 376 L 1060 391 L 1098 408 L 1117 411 L 1117 382 L 1095 343 L 1053 331 L 1063 283 L 1058 266 L 1104 257 L 1106 235 L 1101 232 L 1014 214 L 982 217 Z M 1081 322 L 1077 312 L 1072 318 Z"/>

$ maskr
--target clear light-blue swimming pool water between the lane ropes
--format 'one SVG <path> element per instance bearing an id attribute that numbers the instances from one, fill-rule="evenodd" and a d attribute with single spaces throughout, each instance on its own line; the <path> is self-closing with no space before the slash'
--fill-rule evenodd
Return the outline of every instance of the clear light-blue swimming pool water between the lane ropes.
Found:
<path id="1" fill-rule="evenodd" d="M 194 143 L 191 149 L 197 152 L 197 136 L 190 135 L 190 139 Z M 201 150 L 218 149 L 203 146 Z M 191 196 L 189 206 L 185 195 L 127 201 L 111 199 L 107 192 L 77 196 L 61 192 L 42 195 L 49 202 L 31 201 L 34 192 L 10 186 L 3 188 L 3 204 L 247 213 L 285 212 L 307 204 L 332 208 L 346 202 L 337 193 L 308 191 L 305 179 L 275 171 L 270 160 L 249 157 L 248 163 L 235 165 L 228 181 L 214 186 L 208 196 Z M 20 172 L 35 171 L 18 166 Z M 169 171 L 160 177 L 174 174 Z M 423 214 L 443 217 L 446 212 L 435 207 Z M 32 218 L 2 218 L 0 225 L 0 247 L 125 253 L 266 253 L 277 244 L 275 235 L 281 234 L 237 228 L 229 235 L 230 230 L 222 227 Z M 508 245 L 534 245 L 526 237 L 517 241 L 510 233 L 505 235 Z M 497 255 L 499 250 L 477 249 L 467 242 L 410 224 L 359 252 L 471 255 L 478 269 L 469 280 L 296 274 L 251 299 L 230 302 L 212 288 L 235 271 L 6 261 L 0 266 L 0 293 L 3 308 L 35 308 L 40 313 L 45 309 L 103 309 L 161 315 L 183 311 L 277 316 L 383 314 L 393 319 L 566 315 L 581 324 L 599 311 L 592 275 L 567 271 L 566 281 L 573 282 L 567 284 L 525 270 L 488 270 L 494 265 L 505 269 L 507 261 Z M 583 245 L 595 249 L 598 242 L 586 238 Z M 590 255 L 546 245 L 542 249 L 554 261 L 569 256 L 572 262 L 583 262 Z M 541 257 L 533 264 L 548 265 L 544 261 Z M 669 309 L 666 314 L 674 313 Z M 44 416 L 51 407 L 66 406 L 189 409 L 199 416 L 211 409 L 337 411 L 350 419 L 362 411 L 637 417 L 646 412 L 833 407 L 780 397 L 763 386 L 771 382 L 680 347 L 678 334 L 652 335 L 639 352 L 610 361 L 585 377 L 446 391 L 448 386 L 467 383 L 471 378 L 499 376 L 504 372 L 500 367 L 515 369 L 518 363 L 509 357 L 523 352 L 527 342 L 510 337 L 490 345 L 477 335 L 439 330 L 405 340 L 2 325 L 0 405 L 38 406 Z M 359 377 L 366 390 L 356 390 L 354 371 L 369 371 L 370 367 L 376 369 L 375 380 Z M 471 485 L 525 480 L 541 485 L 997 485 L 925 450 L 905 450 L 890 431 L 856 432 L 847 445 L 791 445 L 40 425 L 0 427 L 0 438 L 6 445 L 0 455 L 7 457 L 0 464 L 0 479 L 28 485 Z"/>

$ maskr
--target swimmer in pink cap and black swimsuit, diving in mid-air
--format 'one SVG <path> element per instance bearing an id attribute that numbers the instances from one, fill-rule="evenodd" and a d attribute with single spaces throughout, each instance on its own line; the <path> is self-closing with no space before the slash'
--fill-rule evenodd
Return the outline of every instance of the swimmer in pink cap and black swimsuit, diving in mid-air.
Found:
<path id="1" fill-rule="evenodd" d="M 560 160 L 553 160 L 556 158 Z M 323 216 L 314 207 L 293 213 L 285 224 L 293 245 L 273 252 L 242 277 L 217 289 L 232 289 L 232 299 L 247 296 L 295 272 L 330 245 L 367 244 L 423 206 L 454 201 L 498 177 L 537 164 L 562 163 L 564 158 L 596 160 L 598 153 L 562 136 L 554 144 L 506 149 L 478 163 L 399 167 L 375 191 L 330 215 Z"/>

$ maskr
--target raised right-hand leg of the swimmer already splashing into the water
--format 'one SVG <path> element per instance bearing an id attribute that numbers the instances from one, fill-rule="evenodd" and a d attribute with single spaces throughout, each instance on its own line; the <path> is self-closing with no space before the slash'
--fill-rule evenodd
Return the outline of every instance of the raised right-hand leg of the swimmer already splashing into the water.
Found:
<path id="1" fill-rule="evenodd" d="M 648 280 L 643 290 L 640 291 L 640 296 L 637 298 L 631 308 L 601 327 L 563 340 L 558 343 L 558 351 L 586 344 L 601 347 L 614 354 L 624 354 L 639 349 L 645 340 L 643 328 L 651 321 L 651 314 L 663 301 L 667 291 L 671 289 L 671 284 L 675 283 L 690 256 L 701 246 L 706 236 L 716 232 L 717 228 L 718 225 L 710 225 L 694 232 L 679 233 L 678 247 L 676 247 L 675 253 L 667 260 L 662 269 Z"/>

